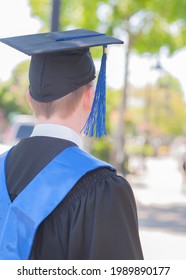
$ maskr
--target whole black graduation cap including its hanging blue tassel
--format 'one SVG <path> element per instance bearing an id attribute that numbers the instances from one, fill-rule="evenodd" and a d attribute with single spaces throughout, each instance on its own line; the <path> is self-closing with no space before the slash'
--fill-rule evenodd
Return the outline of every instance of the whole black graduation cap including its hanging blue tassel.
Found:
<path id="1" fill-rule="evenodd" d="M 114 37 L 86 29 L 2 38 L 0 41 L 32 56 L 29 69 L 30 94 L 40 102 L 61 98 L 94 80 L 95 67 L 89 48 L 106 48 L 110 44 L 123 43 Z M 104 131 L 101 132 L 103 127 L 98 128 L 105 127 L 105 124 L 101 124 L 105 123 L 105 71 L 104 53 L 94 99 L 96 104 L 93 104 L 85 126 L 85 133 L 91 136 L 95 133 L 97 136 L 105 134 Z M 100 118 L 99 106 L 104 115 L 101 122 L 97 120 Z"/>

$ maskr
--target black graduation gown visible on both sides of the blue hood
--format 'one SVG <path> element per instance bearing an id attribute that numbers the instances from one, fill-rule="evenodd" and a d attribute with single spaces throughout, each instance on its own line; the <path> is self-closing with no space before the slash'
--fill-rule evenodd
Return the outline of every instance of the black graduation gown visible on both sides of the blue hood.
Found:
<path id="1" fill-rule="evenodd" d="M 17 144 L 6 162 L 11 199 L 59 152 L 73 145 L 45 136 Z M 143 259 L 136 204 L 128 182 L 107 168 L 86 174 L 39 226 L 30 259 Z"/>

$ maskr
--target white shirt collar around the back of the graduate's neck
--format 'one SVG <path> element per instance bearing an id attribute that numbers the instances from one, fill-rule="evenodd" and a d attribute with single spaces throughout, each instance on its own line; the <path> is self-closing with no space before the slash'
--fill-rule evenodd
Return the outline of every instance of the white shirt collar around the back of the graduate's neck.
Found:
<path id="1" fill-rule="evenodd" d="M 30 137 L 47 136 L 71 141 L 82 149 L 82 139 L 73 129 L 58 124 L 37 124 Z"/>

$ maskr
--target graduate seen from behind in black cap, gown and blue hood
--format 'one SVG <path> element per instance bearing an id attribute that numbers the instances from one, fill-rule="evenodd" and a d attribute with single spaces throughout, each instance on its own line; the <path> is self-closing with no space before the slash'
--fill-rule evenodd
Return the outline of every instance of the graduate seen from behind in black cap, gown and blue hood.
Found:
<path id="1" fill-rule="evenodd" d="M 31 56 L 36 118 L 31 137 L 0 157 L 0 259 L 143 259 L 131 186 L 81 139 L 106 134 L 106 48 L 123 42 L 86 29 L 0 41 Z"/>

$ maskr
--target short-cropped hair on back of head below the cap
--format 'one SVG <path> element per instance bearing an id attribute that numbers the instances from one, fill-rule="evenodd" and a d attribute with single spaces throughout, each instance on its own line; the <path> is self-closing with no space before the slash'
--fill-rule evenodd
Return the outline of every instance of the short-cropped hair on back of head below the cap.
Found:
<path id="1" fill-rule="evenodd" d="M 44 116 L 48 119 L 55 113 L 58 113 L 62 119 L 68 118 L 80 103 L 86 88 L 92 86 L 93 83 L 90 82 L 64 97 L 49 102 L 40 102 L 30 96 L 30 103 L 35 116 Z"/>

